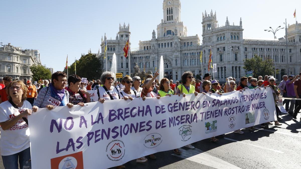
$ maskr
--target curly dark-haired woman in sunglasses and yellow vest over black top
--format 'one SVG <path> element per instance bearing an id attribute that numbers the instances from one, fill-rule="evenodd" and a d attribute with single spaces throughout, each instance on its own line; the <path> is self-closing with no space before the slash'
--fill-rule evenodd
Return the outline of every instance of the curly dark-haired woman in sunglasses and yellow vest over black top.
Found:
<path id="1" fill-rule="evenodd" d="M 184 72 L 181 76 L 182 79 L 182 84 L 179 84 L 175 94 L 178 94 L 178 96 L 180 96 L 180 94 L 183 95 L 183 97 L 186 96 L 186 94 L 192 94 L 194 93 L 195 96 L 197 96 L 197 94 L 199 94 L 197 91 L 195 91 L 195 88 L 193 85 L 191 85 L 191 81 L 192 81 L 193 75 L 192 72 Z M 192 146 L 191 144 L 188 144 L 187 146 L 190 149 L 194 149 L 194 146 Z"/>

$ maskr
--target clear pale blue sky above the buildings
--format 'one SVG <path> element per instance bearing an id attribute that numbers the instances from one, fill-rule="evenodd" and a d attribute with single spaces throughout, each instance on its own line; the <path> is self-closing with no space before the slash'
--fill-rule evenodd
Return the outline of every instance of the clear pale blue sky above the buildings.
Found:
<path id="1" fill-rule="evenodd" d="M 115 1 L 2 1 L 0 6 L 0 40 L 23 49 L 38 49 L 42 64 L 63 70 L 68 54 L 69 64 L 81 53 L 97 53 L 104 33 L 115 39 L 119 23 L 130 24 L 132 48 L 139 40 L 149 40 L 153 29 L 163 18 L 163 0 L 115 0 Z M 301 20 L 301 1 L 181 1 L 181 20 L 187 26 L 188 35 L 198 34 L 202 40 L 202 12 L 216 11 L 219 26 L 226 17 L 231 24 L 243 22 L 244 38 L 273 40 L 272 33 L 263 31 L 272 26 L 294 24 L 293 12 Z M 300 14 L 300 15 L 299 15 Z M 276 36 L 285 35 L 285 29 Z"/>

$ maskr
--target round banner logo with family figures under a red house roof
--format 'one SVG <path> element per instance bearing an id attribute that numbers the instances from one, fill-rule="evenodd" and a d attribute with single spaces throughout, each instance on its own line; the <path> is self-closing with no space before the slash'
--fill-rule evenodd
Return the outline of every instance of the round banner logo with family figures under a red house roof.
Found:
<path id="1" fill-rule="evenodd" d="M 111 141 L 107 145 L 106 152 L 109 152 L 107 154 L 107 158 L 109 158 L 111 161 L 121 160 L 126 152 L 123 141 L 121 140 Z"/>

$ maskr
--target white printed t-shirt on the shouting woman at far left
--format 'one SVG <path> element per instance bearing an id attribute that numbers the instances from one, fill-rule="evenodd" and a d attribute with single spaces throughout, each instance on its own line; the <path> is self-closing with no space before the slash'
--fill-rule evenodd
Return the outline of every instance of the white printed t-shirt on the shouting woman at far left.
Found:
<path id="1" fill-rule="evenodd" d="M 27 100 L 23 101 L 23 106 L 19 109 L 15 109 L 11 103 L 5 101 L 0 104 L 0 122 L 8 121 L 25 109 L 32 109 L 32 107 Z M 13 155 L 29 148 L 29 134 L 28 125 L 22 118 L 10 129 L 3 130 L 1 128 L 1 155 Z"/>

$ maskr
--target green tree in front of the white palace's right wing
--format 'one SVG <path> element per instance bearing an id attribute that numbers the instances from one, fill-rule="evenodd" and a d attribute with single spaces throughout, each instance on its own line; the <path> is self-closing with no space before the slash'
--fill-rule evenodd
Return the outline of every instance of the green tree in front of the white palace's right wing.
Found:
<path id="1" fill-rule="evenodd" d="M 251 59 L 245 59 L 243 69 L 246 71 L 253 70 L 253 77 L 275 74 L 274 60 L 262 59 L 257 55 Z M 276 73 L 279 73 L 279 69 L 276 69 Z"/>

